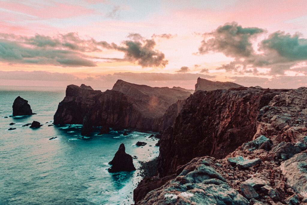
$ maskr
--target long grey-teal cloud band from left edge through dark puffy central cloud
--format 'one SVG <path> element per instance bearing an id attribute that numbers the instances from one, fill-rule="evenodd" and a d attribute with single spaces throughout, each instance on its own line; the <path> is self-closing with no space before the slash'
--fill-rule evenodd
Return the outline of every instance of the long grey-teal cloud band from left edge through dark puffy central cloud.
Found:
<path id="1" fill-rule="evenodd" d="M 129 61 L 142 67 L 165 67 L 168 63 L 161 51 L 155 50 L 153 39 L 145 39 L 140 34 L 129 34 L 132 40 L 121 45 L 82 39 L 78 33 L 59 34 L 56 37 L 36 34 L 34 37 L 0 34 L 0 59 L 10 63 L 50 64 L 60 66 L 96 66 L 88 59 Z M 123 59 L 85 56 L 81 52 L 102 52 L 114 49 L 125 53 Z"/>

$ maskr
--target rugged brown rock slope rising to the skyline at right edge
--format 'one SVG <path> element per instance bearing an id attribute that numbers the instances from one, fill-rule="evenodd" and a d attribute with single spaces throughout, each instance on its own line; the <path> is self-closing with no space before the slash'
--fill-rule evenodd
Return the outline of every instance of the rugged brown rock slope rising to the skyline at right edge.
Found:
<path id="1" fill-rule="evenodd" d="M 254 138 L 259 135 L 277 142 L 293 143 L 307 136 L 307 88 L 283 92 L 263 107 Z"/>

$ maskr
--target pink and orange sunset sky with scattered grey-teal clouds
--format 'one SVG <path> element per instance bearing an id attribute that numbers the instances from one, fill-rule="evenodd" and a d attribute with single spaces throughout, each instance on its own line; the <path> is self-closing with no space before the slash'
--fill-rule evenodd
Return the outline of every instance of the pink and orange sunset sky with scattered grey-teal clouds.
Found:
<path id="1" fill-rule="evenodd" d="M 1 0 L 0 85 L 307 86 L 307 1 Z"/>

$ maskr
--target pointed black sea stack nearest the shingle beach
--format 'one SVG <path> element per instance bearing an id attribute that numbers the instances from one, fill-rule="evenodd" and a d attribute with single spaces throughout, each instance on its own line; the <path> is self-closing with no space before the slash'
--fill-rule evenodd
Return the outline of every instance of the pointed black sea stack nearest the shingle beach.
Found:
<path id="1" fill-rule="evenodd" d="M 109 172 L 119 172 L 119 171 L 134 171 L 135 167 L 133 165 L 132 156 L 125 152 L 125 145 L 120 144 L 118 151 L 115 153 L 115 156 L 109 164 L 112 165 L 108 169 Z"/>

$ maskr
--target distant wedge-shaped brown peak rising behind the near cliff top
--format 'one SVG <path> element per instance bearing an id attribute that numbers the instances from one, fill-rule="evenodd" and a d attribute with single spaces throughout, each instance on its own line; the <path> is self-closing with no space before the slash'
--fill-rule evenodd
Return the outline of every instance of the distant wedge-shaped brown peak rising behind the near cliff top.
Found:
<path id="1" fill-rule="evenodd" d="M 230 88 L 239 88 L 244 87 L 232 82 L 220 82 L 220 81 L 209 81 L 203 78 L 197 78 L 197 83 L 195 85 L 195 92 L 198 90 L 210 91 L 218 89 L 230 89 Z"/>

